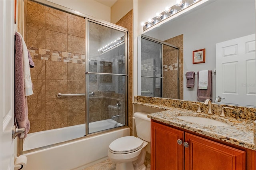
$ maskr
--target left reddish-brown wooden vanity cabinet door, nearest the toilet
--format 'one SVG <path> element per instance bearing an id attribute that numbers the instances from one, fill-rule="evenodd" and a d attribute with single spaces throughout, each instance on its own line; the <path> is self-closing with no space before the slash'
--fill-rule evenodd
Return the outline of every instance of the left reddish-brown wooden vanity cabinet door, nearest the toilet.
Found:
<path id="1" fill-rule="evenodd" d="M 151 170 L 184 170 L 184 132 L 151 121 Z"/>

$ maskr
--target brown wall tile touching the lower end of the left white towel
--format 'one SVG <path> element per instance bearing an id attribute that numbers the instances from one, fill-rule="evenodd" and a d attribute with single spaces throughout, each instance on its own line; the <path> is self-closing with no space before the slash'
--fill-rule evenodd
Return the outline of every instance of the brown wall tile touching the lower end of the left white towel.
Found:
<path id="1" fill-rule="evenodd" d="M 33 95 L 28 96 L 28 100 L 45 99 L 45 80 L 32 79 Z"/>

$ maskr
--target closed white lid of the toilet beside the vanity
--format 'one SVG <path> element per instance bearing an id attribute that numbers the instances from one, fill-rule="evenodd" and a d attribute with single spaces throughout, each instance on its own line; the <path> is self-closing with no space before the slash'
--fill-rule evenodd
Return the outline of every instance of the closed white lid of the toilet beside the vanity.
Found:
<path id="1" fill-rule="evenodd" d="M 109 149 L 113 153 L 130 153 L 139 150 L 143 146 L 143 141 L 134 136 L 124 136 L 111 142 Z"/>

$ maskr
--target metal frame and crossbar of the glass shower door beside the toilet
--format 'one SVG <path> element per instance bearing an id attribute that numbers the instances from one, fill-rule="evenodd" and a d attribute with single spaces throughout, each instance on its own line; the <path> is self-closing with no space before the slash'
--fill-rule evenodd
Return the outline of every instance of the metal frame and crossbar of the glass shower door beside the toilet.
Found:
<path id="1" fill-rule="evenodd" d="M 114 73 L 94 73 L 95 75 L 119 75 L 119 76 L 125 76 L 125 125 L 124 126 L 127 126 L 128 125 L 128 49 L 129 49 L 129 32 L 127 29 L 123 29 L 122 27 L 120 26 L 117 26 L 115 24 L 111 24 L 111 23 L 108 23 L 108 22 L 98 22 L 96 20 L 92 20 L 92 19 L 89 19 L 89 18 L 85 18 L 85 51 L 86 51 L 86 55 L 85 55 L 85 60 L 86 60 L 86 66 L 85 66 L 85 89 L 86 89 L 86 95 L 85 95 L 85 105 L 86 105 L 86 117 L 85 117 L 85 124 L 86 124 L 86 128 L 85 128 L 85 136 L 88 136 L 90 134 L 97 134 L 97 133 L 100 133 L 102 131 L 105 131 L 105 130 L 102 130 L 102 131 L 99 131 L 99 132 L 93 132 L 93 133 L 89 133 L 89 107 L 88 107 L 88 104 L 89 104 L 89 101 L 88 101 L 88 97 L 89 97 L 89 92 L 87 91 L 88 90 L 88 84 L 89 84 L 89 75 L 90 75 L 90 72 L 89 72 L 89 64 L 88 64 L 88 59 L 89 59 L 89 25 L 88 25 L 88 22 L 93 22 L 95 24 L 99 24 L 101 26 L 106 26 L 108 28 L 112 28 L 114 30 L 118 30 L 118 31 L 121 31 L 121 32 L 124 32 L 125 33 L 125 74 L 114 74 Z M 123 127 L 123 126 L 122 126 Z M 116 127 L 118 128 L 118 127 Z M 106 130 L 110 130 L 110 129 L 106 129 Z"/>

